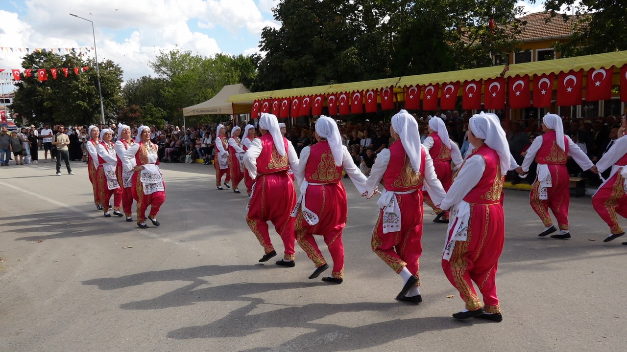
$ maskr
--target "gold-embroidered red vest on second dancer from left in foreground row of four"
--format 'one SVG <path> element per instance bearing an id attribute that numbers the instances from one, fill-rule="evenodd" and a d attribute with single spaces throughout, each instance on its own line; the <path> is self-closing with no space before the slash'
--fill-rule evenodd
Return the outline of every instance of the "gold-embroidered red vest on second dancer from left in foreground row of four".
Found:
<path id="1" fill-rule="evenodd" d="M 310 184 L 335 184 L 342 180 L 342 167 L 335 165 L 329 142 L 323 140 L 311 146 L 305 180 Z"/>

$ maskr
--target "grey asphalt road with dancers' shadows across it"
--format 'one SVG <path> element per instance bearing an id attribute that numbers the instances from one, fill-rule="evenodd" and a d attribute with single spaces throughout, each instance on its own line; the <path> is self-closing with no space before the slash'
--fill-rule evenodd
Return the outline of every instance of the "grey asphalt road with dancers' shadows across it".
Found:
<path id="1" fill-rule="evenodd" d="M 503 322 L 455 321 L 463 302 L 440 266 L 445 225 L 429 209 L 424 302 L 410 306 L 394 300 L 402 281 L 370 247 L 376 199 L 350 182 L 345 279 L 329 285 L 307 279 L 314 266 L 298 246 L 294 268 L 257 262 L 246 195 L 216 190 L 211 165 L 162 165 L 161 227 L 147 230 L 105 219 L 87 167 L 72 165 L 76 175 L 61 177 L 50 162 L 0 168 L 0 351 L 624 348 L 627 237 L 602 242 L 609 230 L 588 197 L 571 200 L 573 238 L 560 241 L 536 236 L 529 192 L 506 191 Z"/>

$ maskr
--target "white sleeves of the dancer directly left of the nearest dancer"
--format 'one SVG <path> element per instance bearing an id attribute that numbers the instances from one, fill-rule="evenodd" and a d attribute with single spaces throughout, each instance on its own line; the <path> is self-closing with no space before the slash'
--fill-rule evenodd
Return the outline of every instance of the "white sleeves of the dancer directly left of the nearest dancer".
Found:
<path id="1" fill-rule="evenodd" d="M 423 152 L 426 153 L 426 157 L 424 158 L 424 175 L 423 175 L 423 185 L 424 189 L 429 192 L 431 196 L 431 200 L 433 200 L 433 204 L 438 205 L 444 199 L 446 192 L 442 187 L 440 180 L 438 180 L 438 175 L 435 173 L 435 168 L 433 168 L 433 159 L 431 155 L 429 155 L 428 150 L 425 147 L 423 148 Z M 390 150 L 385 148 L 381 150 L 377 154 L 377 159 L 374 161 L 374 165 L 372 165 L 372 169 L 370 170 L 370 177 L 366 181 L 366 188 L 368 191 L 368 196 L 371 197 L 374 194 L 374 190 L 377 188 L 379 182 L 383 178 L 383 174 L 387 170 L 387 165 L 390 162 Z"/>

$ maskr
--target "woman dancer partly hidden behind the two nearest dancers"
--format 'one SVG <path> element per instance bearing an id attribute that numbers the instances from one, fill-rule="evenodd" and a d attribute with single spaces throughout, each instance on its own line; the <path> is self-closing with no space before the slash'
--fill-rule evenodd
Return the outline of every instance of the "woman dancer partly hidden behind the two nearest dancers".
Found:
<path id="1" fill-rule="evenodd" d="M 429 136 L 424 139 L 423 145 L 429 151 L 431 159 L 433 159 L 433 168 L 438 175 L 438 179 L 442 183 L 445 191 L 451 188 L 453 183 L 453 170 L 451 168 L 451 160 L 455 165 L 455 168 L 460 167 L 463 159 L 461 158 L 460 147 L 451 142 L 448 138 L 448 130 L 444 120 L 441 118 L 431 118 L 428 122 L 427 131 Z M 448 224 L 448 213 L 443 212 L 433 204 L 429 194 L 424 195 L 424 202 L 433 209 L 436 214 L 433 222 L 441 222 Z"/>

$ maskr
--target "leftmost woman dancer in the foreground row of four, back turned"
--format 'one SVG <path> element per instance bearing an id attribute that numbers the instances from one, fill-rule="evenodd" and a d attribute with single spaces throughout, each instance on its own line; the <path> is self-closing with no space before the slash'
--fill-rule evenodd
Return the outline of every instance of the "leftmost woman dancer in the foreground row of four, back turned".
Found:
<path id="1" fill-rule="evenodd" d="M 246 222 L 264 249 L 260 262 L 277 255 L 268 233 L 270 221 L 285 247 L 283 259 L 277 265 L 293 267 L 296 265 L 294 218 L 290 212 L 296 205 L 296 190 L 287 172 L 290 168 L 297 170 L 298 157 L 292 143 L 281 136 L 277 116 L 261 115 L 259 131 L 261 137 L 253 140 L 244 155 L 246 170 L 255 180 Z"/>

